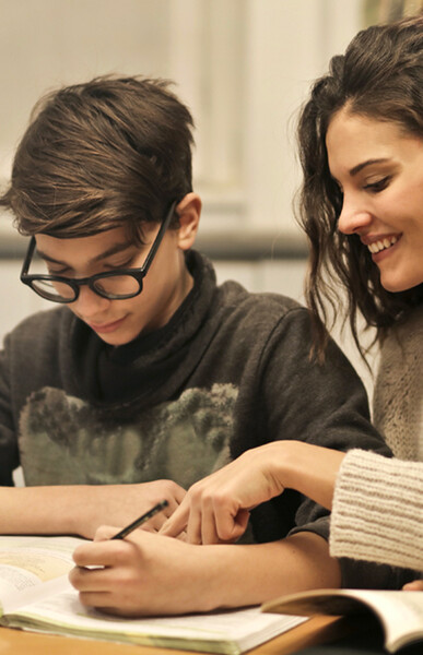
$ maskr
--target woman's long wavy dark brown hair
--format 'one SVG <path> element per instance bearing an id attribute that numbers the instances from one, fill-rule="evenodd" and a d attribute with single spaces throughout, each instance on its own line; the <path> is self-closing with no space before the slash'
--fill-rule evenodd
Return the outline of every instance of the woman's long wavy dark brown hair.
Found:
<path id="1" fill-rule="evenodd" d="M 329 73 L 317 80 L 299 117 L 304 174 L 299 221 L 310 243 L 306 297 L 320 356 L 327 341 L 326 300 L 337 315 L 339 282 L 346 290 L 348 315 L 360 350 L 360 312 L 381 338 L 387 327 L 423 299 L 422 284 L 401 293 L 384 289 L 367 248 L 356 235 L 338 230 L 342 194 L 330 175 L 326 133 L 341 108 L 397 123 L 404 134 L 423 139 L 423 16 L 360 32 L 344 56 L 332 58 Z"/>

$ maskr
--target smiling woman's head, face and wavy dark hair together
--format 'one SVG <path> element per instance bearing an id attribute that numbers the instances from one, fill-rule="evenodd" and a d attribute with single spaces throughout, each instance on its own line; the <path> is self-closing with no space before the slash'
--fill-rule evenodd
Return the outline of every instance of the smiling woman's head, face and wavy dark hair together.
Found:
<path id="1" fill-rule="evenodd" d="M 360 349 L 361 314 L 380 340 L 422 300 L 422 25 L 418 16 L 360 32 L 301 114 L 299 216 L 312 248 L 307 302 L 320 355 L 328 302 L 339 314 L 339 282 Z M 393 245 L 380 250 L 385 239 Z M 395 265 L 406 248 L 414 272 Z"/>

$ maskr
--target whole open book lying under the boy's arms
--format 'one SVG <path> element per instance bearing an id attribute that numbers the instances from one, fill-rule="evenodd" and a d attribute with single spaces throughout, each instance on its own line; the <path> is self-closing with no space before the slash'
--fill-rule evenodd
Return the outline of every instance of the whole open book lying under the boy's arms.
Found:
<path id="1" fill-rule="evenodd" d="M 0 626 L 121 643 L 238 655 L 304 617 L 259 607 L 210 614 L 122 619 L 83 607 L 68 581 L 75 537 L 0 537 Z"/>

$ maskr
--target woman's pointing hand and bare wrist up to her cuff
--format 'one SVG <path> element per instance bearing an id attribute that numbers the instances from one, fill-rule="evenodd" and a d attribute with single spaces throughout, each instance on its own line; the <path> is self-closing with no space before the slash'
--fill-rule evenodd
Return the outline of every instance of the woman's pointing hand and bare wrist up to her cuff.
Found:
<path id="1" fill-rule="evenodd" d="M 252 508 L 285 488 L 330 509 L 344 453 L 303 443 L 274 441 L 246 451 L 188 489 L 161 534 L 186 531 L 190 544 L 233 543 L 245 532 Z"/>

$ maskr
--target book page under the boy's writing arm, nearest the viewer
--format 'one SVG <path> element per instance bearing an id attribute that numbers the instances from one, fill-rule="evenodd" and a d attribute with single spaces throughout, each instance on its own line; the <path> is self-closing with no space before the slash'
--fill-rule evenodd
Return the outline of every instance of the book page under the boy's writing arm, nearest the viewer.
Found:
<path id="1" fill-rule="evenodd" d="M 82 606 L 69 585 L 67 593 L 13 612 L 8 624 L 122 643 L 240 653 L 304 620 L 265 615 L 258 607 L 175 617 L 116 618 Z"/>

